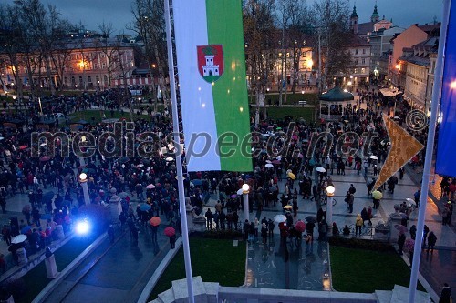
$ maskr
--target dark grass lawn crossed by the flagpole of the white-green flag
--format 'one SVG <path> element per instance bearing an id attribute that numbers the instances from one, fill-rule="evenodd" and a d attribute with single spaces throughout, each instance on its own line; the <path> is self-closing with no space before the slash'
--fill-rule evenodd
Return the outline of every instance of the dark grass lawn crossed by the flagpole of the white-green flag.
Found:
<path id="1" fill-rule="evenodd" d="M 226 287 L 239 287 L 245 278 L 245 242 L 233 247 L 232 240 L 190 237 L 192 276 L 201 276 L 204 282 L 219 282 Z M 153 288 L 148 301 L 171 288 L 171 282 L 185 278 L 182 248 L 172 259 Z"/>

